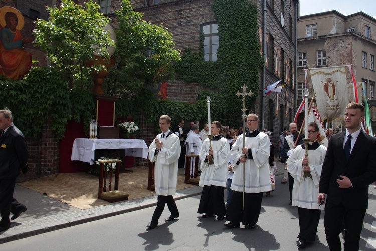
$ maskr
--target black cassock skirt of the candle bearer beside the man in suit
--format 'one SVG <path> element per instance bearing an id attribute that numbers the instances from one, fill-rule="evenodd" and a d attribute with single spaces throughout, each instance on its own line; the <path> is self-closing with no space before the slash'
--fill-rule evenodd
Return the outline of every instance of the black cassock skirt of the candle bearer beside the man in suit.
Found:
<path id="1" fill-rule="evenodd" d="M 321 210 L 298 207 L 298 215 L 300 228 L 298 238 L 315 241 Z"/>

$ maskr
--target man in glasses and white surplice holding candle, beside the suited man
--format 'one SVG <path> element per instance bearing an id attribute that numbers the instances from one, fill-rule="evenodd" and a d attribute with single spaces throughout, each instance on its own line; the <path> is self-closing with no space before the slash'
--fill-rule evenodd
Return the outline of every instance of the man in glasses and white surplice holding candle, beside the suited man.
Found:
<path id="1" fill-rule="evenodd" d="M 298 207 L 300 232 L 298 247 L 304 248 L 307 241 L 315 241 L 321 210 L 317 203 L 318 188 L 326 147 L 317 142 L 320 136 L 316 123 L 308 124 L 308 151 L 305 144 L 297 146 L 287 159 L 287 171 L 294 178 L 292 206 Z M 305 156 L 308 153 L 308 158 Z"/>

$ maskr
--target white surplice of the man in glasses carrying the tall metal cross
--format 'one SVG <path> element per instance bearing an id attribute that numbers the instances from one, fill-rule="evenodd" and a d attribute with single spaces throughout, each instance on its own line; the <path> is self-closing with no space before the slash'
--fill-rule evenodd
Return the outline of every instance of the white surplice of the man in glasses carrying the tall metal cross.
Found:
<path id="1" fill-rule="evenodd" d="M 239 162 L 242 156 L 243 135 L 232 145 L 231 160 L 233 163 L 234 177 L 231 190 L 243 192 L 243 163 Z M 256 137 L 245 137 L 245 147 L 251 149 L 253 159 L 245 163 L 245 189 L 246 193 L 261 193 L 272 190 L 269 171 L 270 141 L 268 135 L 260 132 Z"/>

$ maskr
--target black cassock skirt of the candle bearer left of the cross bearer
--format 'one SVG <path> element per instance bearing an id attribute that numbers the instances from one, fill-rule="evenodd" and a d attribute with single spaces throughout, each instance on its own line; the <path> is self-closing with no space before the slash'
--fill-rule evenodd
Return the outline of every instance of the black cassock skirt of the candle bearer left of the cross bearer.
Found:
<path id="1" fill-rule="evenodd" d="M 223 200 L 224 193 L 225 187 L 204 186 L 197 213 L 215 214 L 218 217 L 226 216 L 226 205 Z"/>

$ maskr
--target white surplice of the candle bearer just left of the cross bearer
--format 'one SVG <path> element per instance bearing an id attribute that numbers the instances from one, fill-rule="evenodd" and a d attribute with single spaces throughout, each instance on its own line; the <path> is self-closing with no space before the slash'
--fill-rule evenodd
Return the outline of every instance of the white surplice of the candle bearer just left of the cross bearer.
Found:
<path id="1" fill-rule="evenodd" d="M 205 162 L 209 154 L 209 139 L 205 139 L 200 150 L 201 175 L 199 186 L 226 186 L 227 166 L 230 157 L 230 145 L 226 138 L 221 137 L 219 140 L 212 140 L 213 162 Z"/>

